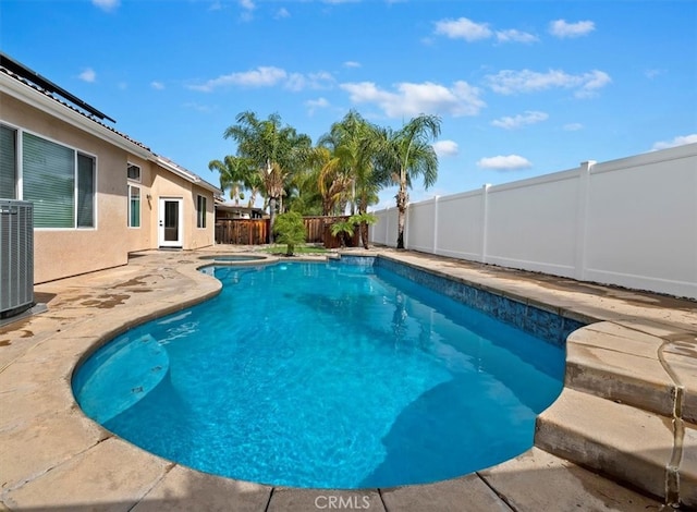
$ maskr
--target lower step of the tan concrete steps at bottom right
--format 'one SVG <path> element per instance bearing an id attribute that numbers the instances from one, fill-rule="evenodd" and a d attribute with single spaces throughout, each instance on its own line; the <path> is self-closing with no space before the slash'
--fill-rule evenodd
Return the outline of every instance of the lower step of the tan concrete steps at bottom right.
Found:
<path id="1" fill-rule="evenodd" d="M 565 388 L 535 446 L 667 503 L 697 507 L 697 426 Z"/>

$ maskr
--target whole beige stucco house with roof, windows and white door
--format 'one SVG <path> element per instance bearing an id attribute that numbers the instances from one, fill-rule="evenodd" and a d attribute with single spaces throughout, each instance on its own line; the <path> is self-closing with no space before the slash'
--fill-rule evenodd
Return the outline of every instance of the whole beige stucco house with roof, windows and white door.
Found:
<path id="1" fill-rule="evenodd" d="M 213 244 L 218 187 L 17 65 L 0 60 L 0 198 L 34 204 L 35 283 Z"/>

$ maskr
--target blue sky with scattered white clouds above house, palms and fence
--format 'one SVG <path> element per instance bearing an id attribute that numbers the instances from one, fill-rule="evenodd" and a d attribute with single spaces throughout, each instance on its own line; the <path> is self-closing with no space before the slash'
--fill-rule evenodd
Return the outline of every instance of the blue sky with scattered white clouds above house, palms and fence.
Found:
<path id="1" fill-rule="evenodd" d="M 412 200 L 697 142 L 693 0 L 0 0 L 0 47 L 215 184 L 244 110 L 440 115 Z"/>

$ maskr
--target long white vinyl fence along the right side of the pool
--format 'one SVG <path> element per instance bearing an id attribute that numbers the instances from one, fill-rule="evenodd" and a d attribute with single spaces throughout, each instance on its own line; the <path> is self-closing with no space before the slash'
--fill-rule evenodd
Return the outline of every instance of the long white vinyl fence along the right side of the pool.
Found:
<path id="1" fill-rule="evenodd" d="M 396 245 L 396 208 L 370 242 Z M 411 204 L 408 249 L 697 298 L 697 144 Z"/>

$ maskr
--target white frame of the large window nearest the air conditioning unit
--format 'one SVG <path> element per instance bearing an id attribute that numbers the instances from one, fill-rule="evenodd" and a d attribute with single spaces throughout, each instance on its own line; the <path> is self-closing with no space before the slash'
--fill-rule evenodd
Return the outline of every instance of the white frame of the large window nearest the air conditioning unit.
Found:
<path id="1" fill-rule="evenodd" d="M 24 134 L 29 134 L 33 135 L 37 138 L 40 138 L 42 141 L 52 143 L 52 144 L 57 144 L 59 146 L 62 146 L 66 149 L 70 149 L 71 151 L 73 151 L 73 175 L 74 175 L 74 180 L 75 180 L 75 185 L 73 188 L 73 202 L 74 202 L 74 211 L 73 211 L 73 225 L 70 228 L 45 228 L 45 227 L 38 227 L 34 225 L 35 231 L 96 231 L 98 229 L 98 219 L 99 219 L 99 215 L 98 215 L 98 204 L 99 202 L 98 199 L 98 190 L 99 190 L 99 159 L 97 157 L 97 155 L 82 150 L 75 146 L 71 146 L 69 144 L 65 144 L 62 141 L 57 141 L 54 138 L 51 137 L 47 137 L 44 134 L 37 133 L 37 132 L 33 132 L 30 130 L 25 130 L 22 126 L 17 126 L 15 124 L 12 123 L 8 123 L 3 120 L 0 120 L 0 124 L 3 124 L 4 126 L 11 129 L 11 130 L 15 130 L 16 131 L 16 154 L 15 154 L 15 158 L 16 158 L 16 198 L 17 200 L 26 200 L 24 198 Z M 94 176 L 93 176 L 93 225 L 89 227 L 78 227 L 77 225 L 77 216 L 78 216 L 78 205 L 77 205 L 77 194 L 78 194 L 78 168 L 77 168 L 77 156 L 82 155 L 84 157 L 87 158 L 91 158 L 94 161 Z"/>

